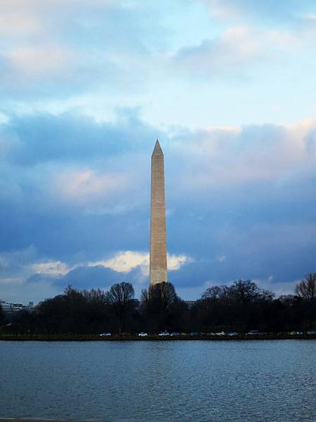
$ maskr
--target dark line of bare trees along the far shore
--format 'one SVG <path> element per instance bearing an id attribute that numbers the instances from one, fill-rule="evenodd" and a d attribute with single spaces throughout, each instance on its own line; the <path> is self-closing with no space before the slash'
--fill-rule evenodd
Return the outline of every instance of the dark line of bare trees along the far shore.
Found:
<path id="1" fill-rule="evenodd" d="M 262 332 L 307 331 L 316 327 L 316 273 L 296 285 L 294 295 L 275 298 L 254 281 L 207 288 L 194 305 L 180 299 L 172 283 L 158 283 L 134 298 L 131 283 L 107 291 L 77 290 L 40 302 L 31 311 L 4 314 L 0 333 L 69 335 L 159 333 L 160 331 Z"/>

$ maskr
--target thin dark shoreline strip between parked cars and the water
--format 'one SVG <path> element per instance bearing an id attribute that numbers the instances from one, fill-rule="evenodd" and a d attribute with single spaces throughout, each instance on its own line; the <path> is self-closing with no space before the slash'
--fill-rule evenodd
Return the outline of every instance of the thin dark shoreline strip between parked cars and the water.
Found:
<path id="1" fill-rule="evenodd" d="M 148 335 L 112 335 L 111 337 L 99 337 L 97 335 L 0 335 L 0 341 L 236 341 L 236 340 L 316 340 L 315 334 L 303 335 L 179 335 L 177 337 L 159 337 Z M 0 419 L 0 422 L 2 419 Z"/>

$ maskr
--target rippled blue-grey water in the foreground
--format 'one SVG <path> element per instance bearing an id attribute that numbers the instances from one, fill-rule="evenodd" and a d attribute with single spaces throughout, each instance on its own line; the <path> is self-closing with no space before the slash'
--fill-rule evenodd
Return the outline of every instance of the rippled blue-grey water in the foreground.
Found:
<path id="1" fill-rule="evenodd" d="M 316 421 L 316 340 L 0 342 L 0 418 Z"/>

